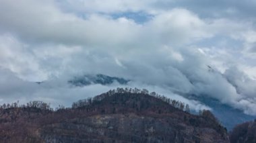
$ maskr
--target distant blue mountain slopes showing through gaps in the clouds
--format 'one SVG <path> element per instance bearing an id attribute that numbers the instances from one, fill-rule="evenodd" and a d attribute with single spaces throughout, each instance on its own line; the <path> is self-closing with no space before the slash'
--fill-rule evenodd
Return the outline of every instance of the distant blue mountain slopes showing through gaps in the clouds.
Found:
<path id="1" fill-rule="evenodd" d="M 210 73 L 216 73 L 221 75 L 221 73 L 218 72 L 218 70 L 215 70 L 211 66 L 207 66 L 207 68 Z M 224 75 L 222 76 L 224 77 Z M 69 85 L 72 85 L 75 87 L 84 87 L 84 86 L 93 85 L 93 84 L 111 85 L 115 82 L 119 83 L 120 85 L 127 85 L 129 81 L 130 81 L 129 79 L 124 79 L 121 77 L 110 77 L 108 75 L 97 74 L 97 75 L 83 75 L 83 76 L 73 77 L 67 82 L 69 83 Z M 38 85 L 44 84 L 44 82 L 37 82 L 37 84 Z M 247 122 L 256 118 L 256 116 L 247 115 L 243 113 L 243 111 L 239 109 L 234 109 L 234 107 L 223 104 L 217 99 L 214 99 L 207 95 L 194 95 L 194 94 L 184 94 L 184 93 L 177 93 L 177 94 L 187 99 L 200 101 L 201 103 L 207 105 L 208 107 L 211 107 L 212 113 L 214 113 L 214 115 L 218 118 L 218 120 L 220 120 L 220 122 L 229 131 L 232 130 L 232 128 L 234 128 L 236 124 L 241 124 L 243 122 Z"/>

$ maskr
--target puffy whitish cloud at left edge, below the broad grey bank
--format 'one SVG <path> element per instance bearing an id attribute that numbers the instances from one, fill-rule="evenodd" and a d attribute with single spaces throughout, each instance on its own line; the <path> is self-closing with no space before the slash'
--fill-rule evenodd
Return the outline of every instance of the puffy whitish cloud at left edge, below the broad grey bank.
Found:
<path id="1" fill-rule="evenodd" d="M 0 36 L 0 67 L 7 68 L 20 77 L 34 79 L 30 73 L 37 73 L 42 79 L 46 78 L 40 71 L 40 65 L 30 51 L 26 50 L 28 45 L 23 44 L 9 34 Z"/>

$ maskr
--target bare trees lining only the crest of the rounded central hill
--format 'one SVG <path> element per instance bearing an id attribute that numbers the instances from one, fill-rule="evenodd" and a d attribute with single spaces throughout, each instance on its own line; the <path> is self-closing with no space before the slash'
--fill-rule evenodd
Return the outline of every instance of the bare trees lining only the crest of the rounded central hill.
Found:
<path id="1" fill-rule="evenodd" d="M 131 88 L 112 89 L 112 90 L 107 91 L 106 93 L 102 93 L 101 95 L 98 95 L 96 97 L 89 97 L 88 99 L 82 99 L 77 102 L 74 102 L 72 104 L 71 108 L 75 109 L 75 108 L 79 108 L 79 107 L 85 107 L 87 105 L 91 105 L 92 103 L 101 101 L 102 99 L 104 99 L 106 97 L 110 97 L 110 96 L 118 95 L 118 94 L 127 94 L 127 93 L 128 94 L 129 93 L 137 94 L 138 96 L 142 94 L 142 95 L 149 95 L 152 97 L 156 97 L 157 99 L 160 99 L 160 100 L 168 103 L 169 105 L 172 105 L 173 107 L 176 107 L 176 108 L 186 111 L 188 113 L 190 112 L 190 108 L 189 108 L 188 104 L 185 104 L 181 101 L 177 101 L 174 99 L 169 99 L 168 97 L 165 97 L 164 95 L 159 95 L 156 92 L 149 92 L 147 89 L 137 89 L 137 88 L 134 88 L 134 89 L 131 89 Z"/>

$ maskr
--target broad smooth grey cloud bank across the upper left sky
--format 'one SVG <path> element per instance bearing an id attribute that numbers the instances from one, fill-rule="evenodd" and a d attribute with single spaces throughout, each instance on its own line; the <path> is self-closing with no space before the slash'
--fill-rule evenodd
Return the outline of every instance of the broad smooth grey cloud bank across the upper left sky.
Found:
<path id="1" fill-rule="evenodd" d="M 32 42 L 86 46 L 100 42 L 106 44 L 106 39 L 116 43 L 126 42 L 130 35 L 136 33 L 136 28 L 133 32 L 131 30 L 134 28 L 129 28 L 134 25 L 132 22 L 122 19 L 113 21 L 98 15 L 92 15 L 87 20 L 79 19 L 69 13 L 61 13 L 49 1 L 40 3 L 27 0 L 19 7 L 14 3 L 15 1 L 1 1 L 0 28 L 3 32 L 12 32 Z M 119 23 L 122 25 L 119 26 Z"/>

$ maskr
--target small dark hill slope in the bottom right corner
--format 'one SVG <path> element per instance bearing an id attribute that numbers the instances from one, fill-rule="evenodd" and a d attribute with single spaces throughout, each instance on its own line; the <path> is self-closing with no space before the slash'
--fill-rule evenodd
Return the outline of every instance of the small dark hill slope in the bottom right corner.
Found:
<path id="1" fill-rule="evenodd" d="M 238 124 L 230 132 L 230 142 L 251 143 L 256 142 L 256 120 Z"/>

